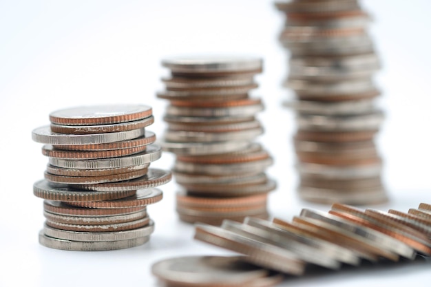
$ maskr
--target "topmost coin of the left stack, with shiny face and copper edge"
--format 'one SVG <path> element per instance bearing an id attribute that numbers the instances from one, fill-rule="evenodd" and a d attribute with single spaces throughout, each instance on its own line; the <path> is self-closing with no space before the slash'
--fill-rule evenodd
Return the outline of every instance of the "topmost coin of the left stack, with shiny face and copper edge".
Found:
<path id="1" fill-rule="evenodd" d="M 96 105 L 72 107 L 50 113 L 50 121 L 59 125 L 109 125 L 151 116 L 147 105 Z"/>

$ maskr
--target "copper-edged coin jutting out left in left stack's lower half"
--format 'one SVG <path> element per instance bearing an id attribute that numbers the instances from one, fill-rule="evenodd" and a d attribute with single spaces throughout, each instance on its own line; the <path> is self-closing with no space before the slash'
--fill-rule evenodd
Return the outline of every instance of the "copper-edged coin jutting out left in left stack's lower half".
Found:
<path id="1" fill-rule="evenodd" d="M 63 202 L 87 202 L 101 200 L 118 200 L 127 198 L 136 193 L 134 191 L 83 191 L 75 189 L 69 184 L 48 182 L 39 180 L 33 184 L 33 194 L 45 200 L 56 200 Z"/>

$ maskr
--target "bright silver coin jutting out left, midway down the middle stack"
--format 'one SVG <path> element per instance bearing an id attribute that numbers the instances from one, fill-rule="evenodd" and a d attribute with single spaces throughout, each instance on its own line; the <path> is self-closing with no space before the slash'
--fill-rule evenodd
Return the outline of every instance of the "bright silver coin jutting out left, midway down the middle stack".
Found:
<path id="1" fill-rule="evenodd" d="M 163 151 L 170 151 L 177 155 L 210 155 L 239 151 L 250 145 L 249 140 L 237 140 L 227 142 L 169 142 L 163 140 L 160 143 Z"/>

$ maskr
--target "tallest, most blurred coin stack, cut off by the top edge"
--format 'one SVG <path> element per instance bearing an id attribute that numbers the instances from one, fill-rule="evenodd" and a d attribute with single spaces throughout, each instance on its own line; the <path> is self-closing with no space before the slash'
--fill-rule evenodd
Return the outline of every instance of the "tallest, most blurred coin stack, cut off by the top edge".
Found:
<path id="1" fill-rule="evenodd" d="M 357 0 L 276 3 L 286 15 L 280 41 L 291 57 L 285 86 L 295 93 L 299 196 L 312 202 L 386 202 L 374 138 L 383 120 L 372 81 L 379 70 L 369 15 Z"/>

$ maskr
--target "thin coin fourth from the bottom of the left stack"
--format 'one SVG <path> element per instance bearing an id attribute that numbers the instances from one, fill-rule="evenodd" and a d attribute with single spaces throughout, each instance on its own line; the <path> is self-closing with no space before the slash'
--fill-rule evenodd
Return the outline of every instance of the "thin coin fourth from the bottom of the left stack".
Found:
<path id="1" fill-rule="evenodd" d="M 78 224 L 78 225 L 101 225 L 101 224 L 118 224 L 140 220 L 148 217 L 147 211 L 137 211 L 134 213 L 127 213 L 122 215 L 110 216 L 75 216 L 75 215 L 59 215 L 43 211 L 43 216 L 50 222 L 61 224 Z"/>

